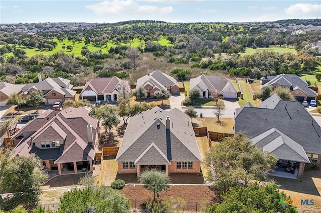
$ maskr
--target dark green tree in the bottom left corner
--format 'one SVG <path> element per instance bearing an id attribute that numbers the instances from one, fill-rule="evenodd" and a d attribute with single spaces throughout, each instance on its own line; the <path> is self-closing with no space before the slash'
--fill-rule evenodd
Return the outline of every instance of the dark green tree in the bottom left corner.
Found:
<path id="1" fill-rule="evenodd" d="M 47 178 L 42 161 L 35 155 L 9 157 L 9 151 L 0 158 L 0 189 L 10 192 L 0 196 L 1 209 L 11 210 L 22 205 L 32 210 L 38 205 L 41 185 Z"/>

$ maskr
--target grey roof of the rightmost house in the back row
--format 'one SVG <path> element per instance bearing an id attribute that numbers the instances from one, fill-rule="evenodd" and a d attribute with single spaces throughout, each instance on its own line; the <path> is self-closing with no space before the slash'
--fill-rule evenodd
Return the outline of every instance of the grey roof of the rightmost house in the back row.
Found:
<path id="1" fill-rule="evenodd" d="M 316 92 L 308 87 L 308 84 L 305 80 L 297 76 L 296 74 L 279 74 L 274 76 L 270 81 L 266 82 L 264 85 L 260 85 L 260 88 L 262 86 L 271 85 L 273 83 L 278 83 L 281 86 L 290 86 L 290 90 L 295 90 L 296 88 L 299 88 L 304 93 L 306 93 L 308 96 L 317 96 Z"/>

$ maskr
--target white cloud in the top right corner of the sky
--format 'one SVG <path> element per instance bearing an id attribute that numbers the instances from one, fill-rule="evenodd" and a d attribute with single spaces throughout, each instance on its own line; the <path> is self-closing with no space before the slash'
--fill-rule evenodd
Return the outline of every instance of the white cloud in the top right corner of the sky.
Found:
<path id="1" fill-rule="evenodd" d="M 320 11 L 321 4 L 316 3 L 297 3 L 284 9 L 285 14 L 304 17 L 320 17 Z"/>

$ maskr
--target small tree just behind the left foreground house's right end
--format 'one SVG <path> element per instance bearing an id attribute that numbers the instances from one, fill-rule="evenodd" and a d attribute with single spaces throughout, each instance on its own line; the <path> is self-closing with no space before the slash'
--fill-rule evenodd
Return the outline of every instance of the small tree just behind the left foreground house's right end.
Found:
<path id="1" fill-rule="evenodd" d="M 107 127 L 109 128 L 109 137 L 111 136 L 111 128 L 117 126 L 120 122 L 116 108 L 108 105 L 96 109 L 94 117 L 102 120 L 102 125 L 105 127 L 105 133 L 107 133 Z"/>

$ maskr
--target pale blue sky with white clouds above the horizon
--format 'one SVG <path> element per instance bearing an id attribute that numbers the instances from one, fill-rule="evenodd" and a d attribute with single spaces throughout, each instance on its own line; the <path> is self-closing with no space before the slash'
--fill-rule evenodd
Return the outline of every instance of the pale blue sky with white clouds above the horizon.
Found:
<path id="1" fill-rule="evenodd" d="M 0 23 L 321 18 L 320 0 L 1 0 L 0 7 Z"/>

